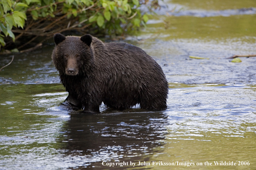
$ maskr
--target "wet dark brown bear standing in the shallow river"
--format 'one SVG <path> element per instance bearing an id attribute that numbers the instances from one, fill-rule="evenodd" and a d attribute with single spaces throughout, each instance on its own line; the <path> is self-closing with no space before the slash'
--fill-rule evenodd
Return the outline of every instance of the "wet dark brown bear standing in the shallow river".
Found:
<path id="1" fill-rule="evenodd" d="M 100 112 L 109 108 L 166 109 L 168 82 L 162 68 L 142 49 L 128 43 L 103 43 L 84 36 L 54 35 L 52 59 L 69 92 L 65 103 Z"/>

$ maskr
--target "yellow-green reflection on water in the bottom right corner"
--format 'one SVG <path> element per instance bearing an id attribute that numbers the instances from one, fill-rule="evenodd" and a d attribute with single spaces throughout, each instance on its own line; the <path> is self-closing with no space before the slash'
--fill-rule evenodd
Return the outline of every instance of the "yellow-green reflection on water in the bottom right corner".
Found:
<path id="1" fill-rule="evenodd" d="M 216 124 L 216 122 L 207 122 L 207 124 L 211 123 Z M 242 123 L 227 128 L 216 126 L 212 129 L 205 128 L 204 131 L 198 131 L 191 125 L 189 129 L 182 126 L 189 125 L 184 123 L 169 126 L 169 133 L 164 141 L 165 145 L 162 146 L 162 152 L 153 155 L 150 161 L 146 161 L 150 165 L 144 166 L 145 169 L 252 170 L 256 167 L 255 123 Z M 181 127 L 181 129 L 176 127 Z M 194 124 L 194 127 L 197 125 Z M 154 165 L 153 161 L 155 161 Z M 170 163 L 170 166 L 161 166 L 161 164 L 156 166 L 159 161 Z M 215 165 L 214 161 L 233 162 L 236 165 Z M 207 164 L 207 162 L 212 164 Z M 244 162 L 250 165 L 244 165 Z M 141 167 L 137 166 L 137 169 Z"/>

